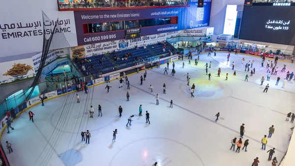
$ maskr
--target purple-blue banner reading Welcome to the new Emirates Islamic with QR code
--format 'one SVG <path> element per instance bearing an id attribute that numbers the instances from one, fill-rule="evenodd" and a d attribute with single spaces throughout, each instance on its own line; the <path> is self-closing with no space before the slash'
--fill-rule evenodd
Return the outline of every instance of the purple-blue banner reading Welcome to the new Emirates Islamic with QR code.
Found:
<path id="1" fill-rule="evenodd" d="M 189 1 L 188 5 L 190 5 L 190 7 L 186 8 L 174 7 L 132 10 L 118 9 L 74 11 L 78 45 L 121 40 L 125 37 L 124 31 L 88 33 L 85 35 L 84 28 L 82 26 L 83 24 L 169 17 L 178 18 L 177 24 L 140 28 L 142 36 L 208 26 L 211 11 L 211 0 L 206 0 L 206 2 L 204 1 L 204 7 L 197 7 L 197 1 L 198 0 Z"/>

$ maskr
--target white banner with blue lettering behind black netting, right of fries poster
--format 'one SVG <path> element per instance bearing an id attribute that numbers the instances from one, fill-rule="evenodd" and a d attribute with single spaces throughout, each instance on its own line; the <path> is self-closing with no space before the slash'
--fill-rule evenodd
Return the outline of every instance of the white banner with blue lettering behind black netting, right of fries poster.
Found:
<path id="1" fill-rule="evenodd" d="M 69 52 L 68 48 L 63 48 L 63 49 L 58 49 L 58 50 L 51 50 L 47 54 L 44 66 L 46 66 L 47 64 L 50 64 L 51 62 L 55 61 L 58 58 L 67 57 L 69 54 L 70 54 L 70 52 Z M 35 71 L 37 71 L 38 68 L 39 68 L 39 65 L 40 65 L 40 62 L 41 62 L 41 56 L 42 56 L 42 53 L 39 53 L 39 54 L 32 57 L 32 61 L 33 61 Z"/>

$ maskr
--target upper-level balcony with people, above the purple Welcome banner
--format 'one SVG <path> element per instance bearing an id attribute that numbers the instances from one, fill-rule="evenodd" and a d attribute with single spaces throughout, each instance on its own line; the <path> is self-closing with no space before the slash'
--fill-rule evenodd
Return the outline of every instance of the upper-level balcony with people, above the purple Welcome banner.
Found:
<path id="1" fill-rule="evenodd" d="M 58 0 L 59 11 L 188 7 L 187 0 Z"/>

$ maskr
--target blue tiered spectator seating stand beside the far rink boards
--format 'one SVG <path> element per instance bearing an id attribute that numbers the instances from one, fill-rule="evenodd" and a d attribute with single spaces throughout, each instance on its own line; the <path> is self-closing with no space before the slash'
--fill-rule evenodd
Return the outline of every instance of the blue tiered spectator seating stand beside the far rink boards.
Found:
<path id="1" fill-rule="evenodd" d="M 163 48 L 165 47 L 165 51 Z M 93 55 L 83 59 L 74 59 L 73 65 L 80 69 L 81 73 L 86 76 L 90 74 L 105 74 L 117 69 L 122 69 L 134 64 L 146 61 L 148 58 L 163 55 L 171 56 L 177 53 L 177 49 L 169 43 L 157 43 L 144 47 L 134 47 L 131 49 L 120 50 L 116 52 Z M 122 60 L 123 59 L 123 60 Z"/>

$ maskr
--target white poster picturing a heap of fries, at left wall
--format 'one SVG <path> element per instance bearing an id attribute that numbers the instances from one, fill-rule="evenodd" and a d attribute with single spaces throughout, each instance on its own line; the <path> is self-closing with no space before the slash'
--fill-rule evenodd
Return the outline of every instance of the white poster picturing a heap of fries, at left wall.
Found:
<path id="1" fill-rule="evenodd" d="M 35 76 L 31 58 L 0 63 L 0 84 L 29 79 Z"/>

